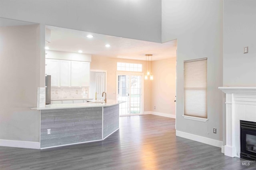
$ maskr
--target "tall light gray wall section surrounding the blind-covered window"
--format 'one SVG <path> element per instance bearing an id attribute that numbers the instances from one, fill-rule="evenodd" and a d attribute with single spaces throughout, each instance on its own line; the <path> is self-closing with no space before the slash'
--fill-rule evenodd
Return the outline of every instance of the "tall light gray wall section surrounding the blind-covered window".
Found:
<path id="1" fill-rule="evenodd" d="M 176 130 L 222 141 L 222 0 L 163 0 L 162 41 L 177 39 Z M 184 119 L 183 61 L 208 58 L 208 121 Z M 217 134 L 212 133 L 217 128 Z"/>

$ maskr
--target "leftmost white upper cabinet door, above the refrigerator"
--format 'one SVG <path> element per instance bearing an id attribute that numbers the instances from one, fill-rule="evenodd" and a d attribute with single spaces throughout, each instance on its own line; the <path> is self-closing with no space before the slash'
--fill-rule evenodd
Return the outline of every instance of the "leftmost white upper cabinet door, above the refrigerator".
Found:
<path id="1" fill-rule="evenodd" d="M 46 74 L 51 75 L 51 86 L 59 86 L 59 61 L 47 60 Z"/>

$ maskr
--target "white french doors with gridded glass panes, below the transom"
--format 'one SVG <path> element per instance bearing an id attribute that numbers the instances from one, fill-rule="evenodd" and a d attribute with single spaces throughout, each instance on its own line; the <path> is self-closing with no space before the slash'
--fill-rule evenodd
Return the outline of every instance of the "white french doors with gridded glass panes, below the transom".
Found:
<path id="1" fill-rule="evenodd" d="M 142 75 L 136 73 L 117 73 L 117 100 L 119 115 L 141 115 L 143 113 Z"/>

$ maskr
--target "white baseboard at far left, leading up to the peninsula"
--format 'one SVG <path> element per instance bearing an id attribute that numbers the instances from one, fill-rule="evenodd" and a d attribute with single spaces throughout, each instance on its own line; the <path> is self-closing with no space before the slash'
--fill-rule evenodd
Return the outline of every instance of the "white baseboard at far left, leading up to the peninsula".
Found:
<path id="1" fill-rule="evenodd" d="M 30 142 L 30 141 L 12 141 L 12 140 L 0 139 L 0 146 L 1 147 L 40 149 L 39 142 Z"/>

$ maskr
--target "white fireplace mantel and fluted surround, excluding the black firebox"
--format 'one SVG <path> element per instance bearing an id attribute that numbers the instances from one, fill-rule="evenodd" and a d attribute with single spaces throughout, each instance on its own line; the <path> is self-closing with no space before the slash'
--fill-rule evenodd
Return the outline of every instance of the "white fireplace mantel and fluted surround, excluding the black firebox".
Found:
<path id="1" fill-rule="evenodd" d="M 240 120 L 256 122 L 256 87 L 219 87 L 226 94 L 224 154 L 240 157 Z"/>

